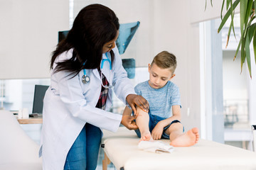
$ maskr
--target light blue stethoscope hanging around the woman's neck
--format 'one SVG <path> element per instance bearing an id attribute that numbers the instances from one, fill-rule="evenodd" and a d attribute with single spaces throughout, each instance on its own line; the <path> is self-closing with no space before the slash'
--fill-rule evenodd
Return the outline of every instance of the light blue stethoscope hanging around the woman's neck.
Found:
<path id="1" fill-rule="evenodd" d="M 107 52 L 105 53 L 106 57 L 107 57 Z M 103 65 L 104 65 L 104 62 L 109 62 L 110 63 L 110 82 L 109 82 L 109 85 L 106 86 L 102 83 L 102 86 L 107 88 L 107 89 L 110 89 L 112 88 L 112 63 L 111 63 L 111 60 L 107 57 L 107 59 L 103 59 L 102 62 L 101 62 L 101 66 L 100 66 L 100 79 L 103 79 L 103 76 L 102 76 L 102 69 L 103 69 Z M 85 65 L 85 62 L 84 64 Z M 83 84 L 87 84 L 90 82 L 90 77 L 86 75 L 86 70 L 83 69 L 83 76 L 82 76 L 82 83 Z"/>

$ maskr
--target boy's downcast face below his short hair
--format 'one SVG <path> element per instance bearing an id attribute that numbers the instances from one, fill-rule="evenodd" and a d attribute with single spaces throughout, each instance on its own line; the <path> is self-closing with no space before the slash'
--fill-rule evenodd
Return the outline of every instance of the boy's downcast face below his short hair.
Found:
<path id="1" fill-rule="evenodd" d="M 149 86 L 154 89 L 160 89 L 171 80 L 175 74 L 170 69 L 162 69 L 156 64 L 149 64 Z"/>

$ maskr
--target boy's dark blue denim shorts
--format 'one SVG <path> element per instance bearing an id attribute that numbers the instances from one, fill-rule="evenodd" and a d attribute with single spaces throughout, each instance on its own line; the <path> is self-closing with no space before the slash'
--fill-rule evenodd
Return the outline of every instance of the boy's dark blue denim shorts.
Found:
<path id="1" fill-rule="evenodd" d="M 161 120 L 165 120 L 165 119 L 166 118 L 161 118 L 160 116 L 151 115 L 151 113 L 149 113 L 149 131 L 152 132 L 152 130 L 155 128 L 156 124 L 159 123 Z M 174 124 L 174 123 L 181 123 L 181 122 L 178 121 L 178 120 L 174 120 L 169 125 L 164 127 L 164 131 L 163 131 L 163 134 L 161 135 L 161 138 L 163 138 L 163 139 L 170 139 L 169 135 L 166 134 L 165 130 L 167 128 L 169 128 L 171 126 L 171 124 Z M 139 129 L 135 130 L 135 132 L 136 132 L 138 137 L 141 137 Z M 184 132 L 184 127 L 183 127 L 183 132 Z"/>

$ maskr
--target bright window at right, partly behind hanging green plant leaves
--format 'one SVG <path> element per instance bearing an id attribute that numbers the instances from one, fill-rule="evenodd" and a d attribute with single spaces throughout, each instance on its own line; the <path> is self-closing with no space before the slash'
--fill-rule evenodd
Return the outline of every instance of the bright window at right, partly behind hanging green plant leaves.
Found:
<path id="1" fill-rule="evenodd" d="M 225 144 L 252 149 L 250 125 L 255 122 L 255 104 L 252 102 L 256 101 L 256 96 L 252 94 L 255 94 L 256 78 L 252 76 L 250 79 L 246 63 L 240 72 L 240 53 L 233 61 L 240 40 L 239 18 L 235 15 L 236 39 L 231 32 L 228 47 L 229 23 L 219 34 L 220 19 L 201 23 L 206 122 L 209 122 L 208 131 L 213 140 L 220 142 L 223 137 Z M 251 56 L 254 58 L 253 49 Z M 252 62 L 255 68 L 253 64 L 255 62 Z"/>

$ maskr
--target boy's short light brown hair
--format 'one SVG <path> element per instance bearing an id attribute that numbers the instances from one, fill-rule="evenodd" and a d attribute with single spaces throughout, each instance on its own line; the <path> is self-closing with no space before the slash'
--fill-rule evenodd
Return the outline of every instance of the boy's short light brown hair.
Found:
<path id="1" fill-rule="evenodd" d="M 162 69 L 170 69 L 172 74 L 174 74 L 177 66 L 175 55 L 166 51 L 162 51 L 156 55 L 156 57 L 154 57 L 153 61 L 151 62 L 151 65 L 152 64 L 156 64 Z"/>

